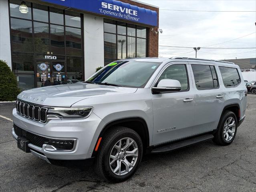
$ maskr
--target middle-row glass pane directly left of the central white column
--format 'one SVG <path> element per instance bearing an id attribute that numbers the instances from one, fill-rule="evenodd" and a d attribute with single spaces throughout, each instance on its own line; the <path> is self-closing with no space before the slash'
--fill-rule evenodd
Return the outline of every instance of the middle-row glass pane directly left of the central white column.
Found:
<path id="1" fill-rule="evenodd" d="M 66 27 L 66 49 L 68 55 L 81 56 L 81 29 Z"/>

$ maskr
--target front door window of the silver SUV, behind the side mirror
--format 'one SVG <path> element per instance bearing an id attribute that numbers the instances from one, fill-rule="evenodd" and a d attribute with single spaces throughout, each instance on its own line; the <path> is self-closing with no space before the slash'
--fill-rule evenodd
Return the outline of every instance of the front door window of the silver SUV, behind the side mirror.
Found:
<path id="1" fill-rule="evenodd" d="M 188 89 L 188 79 L 187 79 L 187 70 L 184 64 L 175 64 L 168 66 L 157 82 L 162 79 L 174 79 L 178 80 L 181 84 L 181 90 Z"/>

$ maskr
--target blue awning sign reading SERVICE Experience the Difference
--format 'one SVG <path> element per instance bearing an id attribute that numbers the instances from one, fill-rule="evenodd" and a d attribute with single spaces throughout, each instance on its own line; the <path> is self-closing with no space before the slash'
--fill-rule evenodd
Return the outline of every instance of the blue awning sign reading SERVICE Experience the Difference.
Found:
<path id="1" fill-rule="evenodd" d="M 78 10 L 157 26 L 157 12 L 117 0 L 41 0 Z"/>

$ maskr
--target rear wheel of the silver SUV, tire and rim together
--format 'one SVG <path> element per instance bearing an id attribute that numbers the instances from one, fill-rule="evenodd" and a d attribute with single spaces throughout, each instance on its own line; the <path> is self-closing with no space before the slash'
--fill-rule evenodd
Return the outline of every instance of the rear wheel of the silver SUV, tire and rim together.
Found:
<path id="1" fill-rule="evenodd" d="M 220 119 L 218 131 L 214 135 L 214 142 L 218 145 L 229 145 L 233 142 L 236 131 L 236 115 L 232 111 L 225 111 Z"/>

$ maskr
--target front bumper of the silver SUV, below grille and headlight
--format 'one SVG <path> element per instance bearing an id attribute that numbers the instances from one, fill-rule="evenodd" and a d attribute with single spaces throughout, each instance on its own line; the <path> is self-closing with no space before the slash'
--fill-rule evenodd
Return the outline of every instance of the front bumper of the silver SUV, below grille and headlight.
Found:
<path id="1" fill-rule="evenodd" d="M 13 122 L 12 135 L 23 151 L 52 164 L 92 164 L 95 134 L 101 122 L 95 114 L 87 119 L 50 120 L 42 124 L 18 115 L 14 109 Z"/>

